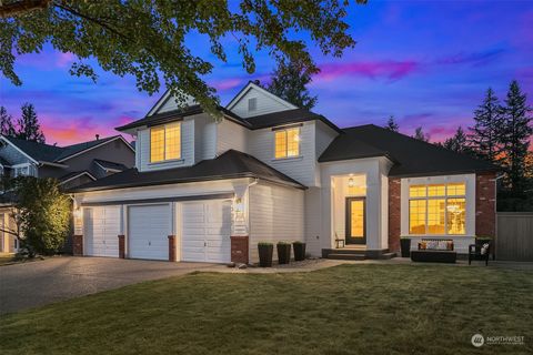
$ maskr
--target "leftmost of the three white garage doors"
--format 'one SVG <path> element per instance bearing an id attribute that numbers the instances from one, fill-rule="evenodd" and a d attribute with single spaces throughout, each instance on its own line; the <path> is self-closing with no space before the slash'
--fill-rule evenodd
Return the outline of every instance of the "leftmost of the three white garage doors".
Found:
<path id="1" fill-rule="evenodd" d="M 84 207 L 86 255 L 119 257 L 120 206 Z"/>

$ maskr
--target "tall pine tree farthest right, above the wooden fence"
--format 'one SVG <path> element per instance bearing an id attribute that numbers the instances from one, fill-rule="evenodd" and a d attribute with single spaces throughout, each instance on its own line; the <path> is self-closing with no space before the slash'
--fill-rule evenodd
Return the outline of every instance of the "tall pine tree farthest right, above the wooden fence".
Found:
<path id="1" fill-rule="evenodd" d="M 527 97 L 522 93 L 516 80 L 509 87 L 505 106 L 502 110 L 502 163 L 506 171 L 506 184 L 514 195 L 522 195 L 526 184 L 527 149 L 533 134 Z"/>

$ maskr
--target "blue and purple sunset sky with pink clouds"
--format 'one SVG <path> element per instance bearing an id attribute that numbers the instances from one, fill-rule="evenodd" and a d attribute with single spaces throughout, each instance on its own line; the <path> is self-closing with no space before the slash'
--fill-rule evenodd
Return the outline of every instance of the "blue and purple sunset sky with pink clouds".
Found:
<path id="1" fill-rule="evenodd" d="M 310 85 L 319 97 L 313 111 L 342 128 L 381 125 L 392 114 L 402 132 L 422 125 L 440 141 L 457 125 L 471 125 L 489 87 L 503 99 L 516 79 L 533 104 L 533 1 L 369 2 L 350 9 L 358 44 L 343 58 L 323 57 L 310 42 L 322 69 Z M 227 63 L 214 60 L 205 39 L 191 36 L 191 43 L 194 53 L 213 61 L 205 79 L 222 104 L 249 80 L 266 82 L 273 70 L 273 60 L 260 52 L 255 74 L 248 75 L 232 40 L 224 43 Z M 0 105 L 18 116 L 22 103 L 33 103 L 48 143 L 115 134 L 114 126 L 142 118 L 159 98 L 139 92 L 132 78 L 101 70 L 95 84 L 71 77 L 73 60 L 48 47 L 18 58 L 22 87 L 0 77 Z"/>

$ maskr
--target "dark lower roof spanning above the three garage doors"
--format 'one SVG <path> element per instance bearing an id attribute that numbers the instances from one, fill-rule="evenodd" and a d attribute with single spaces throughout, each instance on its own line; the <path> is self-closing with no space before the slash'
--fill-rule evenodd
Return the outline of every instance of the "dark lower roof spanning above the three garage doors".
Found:
<path id="1" fill-rule="evenodd" d="M 229 150 L 215 159 L 203 160 L 192 166 L 152 172 L 139 172 L 134 168 L 128 169 L 123 172 L 77 186 L 70 192 L 89 192 L 239 178 L 257 178 L 298 189 L 306 189 L 298 181 L 266 165 L 257 158 L 235 150 Z"/>

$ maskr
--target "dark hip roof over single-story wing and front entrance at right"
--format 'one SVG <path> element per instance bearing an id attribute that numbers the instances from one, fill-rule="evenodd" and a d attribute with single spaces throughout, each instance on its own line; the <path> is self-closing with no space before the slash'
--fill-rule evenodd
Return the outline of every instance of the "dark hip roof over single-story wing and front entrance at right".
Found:
<path id="1" fill-rule="evenodd" d="M 393 162 L 389 176 L 409 178 L 495 171 L 490 162 L 450 151 L 414 138 L 366 124 L 343 129 L 319 162 L 386 156 Z"/>

